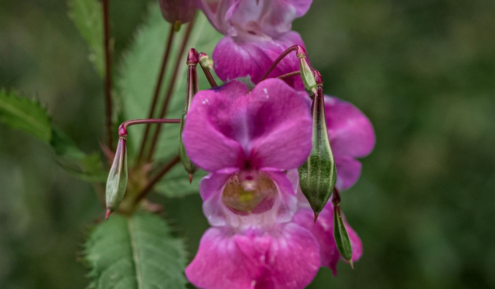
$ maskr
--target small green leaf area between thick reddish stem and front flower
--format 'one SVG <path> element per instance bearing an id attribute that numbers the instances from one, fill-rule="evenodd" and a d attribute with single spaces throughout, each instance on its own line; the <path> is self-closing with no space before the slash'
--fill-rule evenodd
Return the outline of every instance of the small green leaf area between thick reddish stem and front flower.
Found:
<path id="1" fill-rule="evenodd" d="M 206 176 L 206 172 L 198 170 L 194 174 L 193 182 L 189 184 L 188 173 L 182 164 L 178 164 L 156 185 L 155 190 L 169 198 L 198 194 L 199 181 L 204 176 Z"/>

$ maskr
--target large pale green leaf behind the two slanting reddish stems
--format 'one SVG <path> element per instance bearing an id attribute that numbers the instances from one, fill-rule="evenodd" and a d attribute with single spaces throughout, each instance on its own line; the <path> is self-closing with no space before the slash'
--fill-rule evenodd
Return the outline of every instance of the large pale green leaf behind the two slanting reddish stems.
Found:
<path id="1" fill-rule="evenodd" d="M 138 30 L 134 43 L 124 55 L 122 65 L 118 69 L 119 76 L 116 84 L 122 98 L 123 113 L 125 118 L 146 118 L 149 112 L 149 105 L 153 96 L 156 77 L 161 65 L 161 58 L 164 47 L 170 32 L 170 24 L 163 20 L 158 3 L 150 5 L 148 17 L 143 26 Z M 175 83 L 175 89 L 168 107 L 168 118 L 180 118 L 184 108 L 186 96 L 187 51 L 180 52 L 179 48 L 187 27 L 182 27 L 181 31 L 175 35 L 173 49 L 169 58 L 169 63 L 163 79 L 160 101 L 157 109 L 158 114 L 161 108 L 163 95 L 167 90 L 173 68 L 180 57 L 179 76 Z M 194 28 L 188 41 L 187 48 L 194 47 L 200 52 L 211 54 L 216 43 L 222 35 L 217 32 L 208 22 L 203 14 L 198 14 L 195 19 Z M 200 89 L 209 88 L 208 81 L 201 75 L 198 76 Z M 156 148 L 155 157 L 160 161 L 167 161 L 178 153 L 179 148 L 179 125 L 161 125 L 162 133 Z M 133 127 L 129 131 L 128 145 L 130 160 L 135 149 L 140 145 L 144 132 L 144 125 Z M 154 129 L 151 129 L 154 132 Z M 134 152 L 133 152 L 134 151 Z"/>

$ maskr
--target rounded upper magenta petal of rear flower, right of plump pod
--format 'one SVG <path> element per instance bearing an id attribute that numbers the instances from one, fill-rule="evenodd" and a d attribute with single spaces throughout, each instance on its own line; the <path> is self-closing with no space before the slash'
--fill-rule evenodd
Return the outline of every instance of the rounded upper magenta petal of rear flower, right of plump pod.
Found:
<path id="1" fill-rule="evenodd" d="M 349 102 L 327 96 L 325 114 L 328 137 L 336 156 L 359 158 L 371 153 L 375 146 L 375 131 L 361 110 Z"/>

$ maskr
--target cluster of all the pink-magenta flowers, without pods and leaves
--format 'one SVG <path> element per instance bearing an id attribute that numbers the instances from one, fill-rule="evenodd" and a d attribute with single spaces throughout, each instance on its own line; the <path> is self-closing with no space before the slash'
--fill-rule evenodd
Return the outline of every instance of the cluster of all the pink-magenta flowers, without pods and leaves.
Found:
<path id="1" fill-rule="evenodd" d="M 207 171 L 200 183 L 203 211 L 212 226 L 186 268 L 201 288 L 303 288 L 321 266 L 342 258 L 334 239 L 334 205 L 317 222 L 299 187 L 299 168 L 311 151 L 311 101 L 301 78 L 274 78 L 299 70 L 295 55 L 272 63 L 292 45 L 303 46 L 291 23 L 311 1 L 217 0 L 201 2 L 225 37 L 213 52 L 215 72 L 226 83 L 198 92 L 182 139 L 190 160 Z M 254 88 L 237 77 L 251 77 Z M 338 172 L 336 187 L 353 186 L 356 158 L 368 155 L 375 135 L 352 104 L 324 97 L 325 122 Z M 362 243 L 344 218 L 356 261 Z"/>

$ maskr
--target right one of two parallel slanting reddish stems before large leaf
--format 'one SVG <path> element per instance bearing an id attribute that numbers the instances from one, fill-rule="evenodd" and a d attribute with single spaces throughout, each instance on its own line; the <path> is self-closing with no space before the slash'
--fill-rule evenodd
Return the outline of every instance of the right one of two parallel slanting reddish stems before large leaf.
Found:
<path id="1" fill-rule="evenodd" d="M 165 100 L 163 101 L 163 105 L 161 106 L 161 111 L 160 111 L 160 114 L 158 116 L 159 118 L 163 118 L 165 116 L 165 114 L 167 113 L 167 107 L 169 106 L 169 102 L 170 102 L 170 99 L 172 97 L 172 92 L 174 91 L 174 87 L 175 87 L 175 83 L 176 83 L 176 79 L 177 79 L 177 74 L 178 74 L 177 72 L 179 70 L 179 65 L 180 65 L 181 60 L 182 60 L 182 57 L 180 57 L 180 56 L 185 53 L 186 45 L 187 45 L 187 42 L 189 41 L 189 36 L 191 35 L 193 25 L 194 25 L 194 18 L 189 23 L 187 30 L 186 30 L 186 34 L 184 35 L 184 38 L 182 40 L 182 44 L 181 44 L 181 47 L 179 49 L 177 61 L 175 63 L 174 69 L 173 69 L 174 74 L 172 75 L 172 78 L 171 78 L 170 83 L 169 83 L 169 87 L 167 89 L 167 93 L 165 95 Z M 159 134 L 160 134 L 160 127 L 157 126 L 155 131 L 154 131 L 153 140 L 151 141 L 151 147 L 149 149 L 149 154 L 148 154 L 148 158 L 147 158 L 148 163 L 151 162 L 151 160 L 153 159 L 153 154 L 154 154 L 154 151 L 156 148 L 156 143 L 158 142 Z"/>

